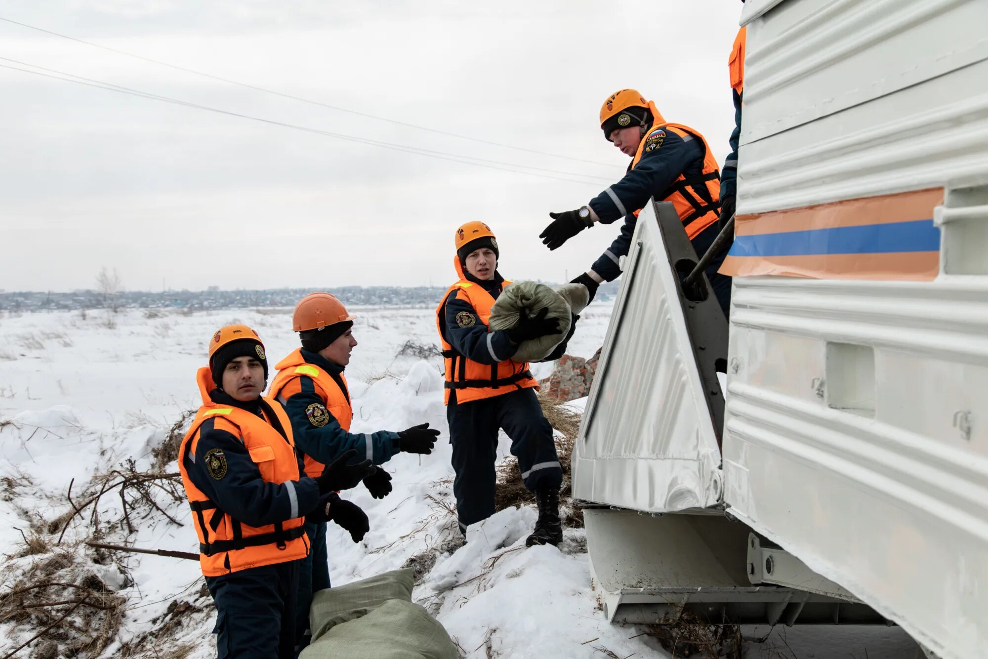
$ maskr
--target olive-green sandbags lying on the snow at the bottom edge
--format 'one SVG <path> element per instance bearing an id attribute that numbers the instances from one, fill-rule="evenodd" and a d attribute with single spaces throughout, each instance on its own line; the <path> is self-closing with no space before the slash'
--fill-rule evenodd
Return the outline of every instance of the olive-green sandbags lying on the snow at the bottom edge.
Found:
<path id="1" fill-rule="evenodd" d="M 443 625 L 412 603 L 414 581 L 406 568 L 315 593 L 301 659 L 456 659 Z"/>

